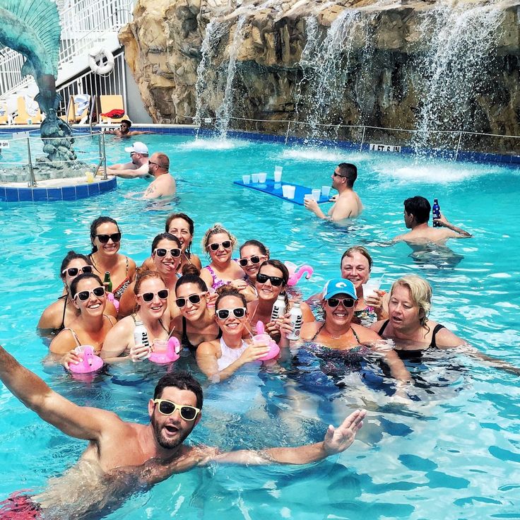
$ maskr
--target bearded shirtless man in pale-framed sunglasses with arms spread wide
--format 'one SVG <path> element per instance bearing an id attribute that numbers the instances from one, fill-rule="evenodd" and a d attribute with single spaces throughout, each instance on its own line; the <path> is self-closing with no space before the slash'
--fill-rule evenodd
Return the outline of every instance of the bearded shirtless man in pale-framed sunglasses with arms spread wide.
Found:
<path id="1" fill-rule="evenodd" d="M 341 426 L 329 426 L 324 441 L 297 448 L 220 452 L 215 447 L 183 444 L 201 420 L 199 382 L 186 372 L 162 376 L 148 401 L 150 423 L 127 423 L 113 412 L 77 406 L 52 391 L 0 347 L 0 379 L 25 406 L 66 435 L 89 441 L 71 469 L 40 495 L 11 495 L 0 504 L 38 514 L 34 518 L 83 518 L 121 504 L 136 488 L 151 486 L 173 473 L 211 462 L 243 465 L 307 464 L 344 451 L 362 427 L 365 410 L 356 410 Z M 69 512 L 69 514 L 66 514 Z M 89 516 L 90 517 L 90 516 Z M 32 516 L 31 516 L 32 518 Z"/>

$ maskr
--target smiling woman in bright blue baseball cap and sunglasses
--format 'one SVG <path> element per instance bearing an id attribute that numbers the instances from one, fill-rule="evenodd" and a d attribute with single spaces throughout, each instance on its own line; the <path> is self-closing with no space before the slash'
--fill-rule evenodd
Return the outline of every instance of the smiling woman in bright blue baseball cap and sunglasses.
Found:
<path id="1" fill-rule="evenodd" d="M 367 327 L 353 323 L 357 299 L 355 286 L 350 280 L 329 280 L 325 284 L 321 299 L 325 320 L 303 324 L 300 338 L 333 350 L 370 349 L 382 356 L 392 377 L 401 382 L 408 382 L 410 374 L 394 350 L 386 345 L 382 345 L 381 348 L 377 345 L 378 341 L 382 341 L 381 336 Z M 367 344 L 372 346 L 365 347 Z"/>

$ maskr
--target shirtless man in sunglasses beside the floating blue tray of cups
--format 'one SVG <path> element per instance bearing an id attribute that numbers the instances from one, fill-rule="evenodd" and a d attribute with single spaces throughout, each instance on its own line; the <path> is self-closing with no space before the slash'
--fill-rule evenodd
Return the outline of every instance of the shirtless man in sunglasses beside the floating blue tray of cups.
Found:
<path id="1" fill-rule="evenodd" d="M 307 199 L 304 202 L 305 208 L 312 211 L 318 218 L 328 218 L 334 222 L 357 217 L 363 209 L 361 199 L 353 189 L 357 178 L 358 168 L 348 162 L 342 162 L 332 174 L 332 187 L 338 190 L 339 195 L 331 199 L 334 204 L 329 209 L 329 213 L 325 215 L 314 199 Z"/>

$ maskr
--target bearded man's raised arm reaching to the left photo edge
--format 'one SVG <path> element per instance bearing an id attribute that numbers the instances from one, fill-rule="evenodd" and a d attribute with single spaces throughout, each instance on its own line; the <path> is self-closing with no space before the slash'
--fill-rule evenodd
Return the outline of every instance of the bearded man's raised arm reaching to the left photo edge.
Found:
<path id="1" fill-rule="evenodd" d="M 121 422 L 112 412 L 71 403 L 50 389 L 36 374 L 20 365 L 1 346 L 0 379 L 25 406 L 71 437 L 96 440 L 105 427 L 114 421 Z"/>

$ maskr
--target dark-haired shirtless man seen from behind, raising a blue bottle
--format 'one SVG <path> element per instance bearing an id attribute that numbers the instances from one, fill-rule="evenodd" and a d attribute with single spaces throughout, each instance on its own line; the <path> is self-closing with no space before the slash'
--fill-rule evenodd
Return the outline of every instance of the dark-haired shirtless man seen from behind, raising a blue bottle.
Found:
<path id="1" fill-rule="evenodd" d="M 404 201 L 404 222 L 406 228 L 411 231 L 398 235 L 392 242 L 406 242 L 413 246 L 427 242 L 444 243 L 449 238 L 470 238 L 472 236 L 467 231 L 450 224 L 444 215 L 434 220 L 439 223 L 439 228 L 430 228 L 428 225 L 430 211 L 430 203 L 424 197 L 416 195 L 406 199 Z"/>

